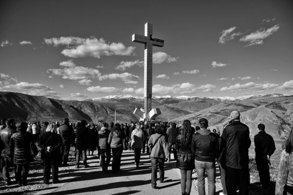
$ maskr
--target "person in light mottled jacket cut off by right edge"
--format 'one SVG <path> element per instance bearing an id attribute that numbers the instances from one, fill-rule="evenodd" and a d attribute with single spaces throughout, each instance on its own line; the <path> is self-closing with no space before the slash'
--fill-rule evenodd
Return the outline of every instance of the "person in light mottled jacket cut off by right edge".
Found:
<path id="1" fill-rule="evenodd" d="M 276 195 L 293 194 L 293 127 L 291 132 L 282 146 L 281 159 L 276 181 Z"/>

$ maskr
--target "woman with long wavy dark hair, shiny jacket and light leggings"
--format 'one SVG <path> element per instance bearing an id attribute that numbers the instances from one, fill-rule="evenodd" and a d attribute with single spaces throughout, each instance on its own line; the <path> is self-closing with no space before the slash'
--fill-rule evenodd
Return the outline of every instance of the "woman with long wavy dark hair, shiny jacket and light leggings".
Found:
<path id="1" fill-rule="evenodd" d="M 190 194 L 192 170 L 195 168 L 194 156 L 191 151 L 192 135 L 190 121 L 184 120 L 176 136 L 176 167 L 180 169 L 181 192 L 183 195 Z"/>

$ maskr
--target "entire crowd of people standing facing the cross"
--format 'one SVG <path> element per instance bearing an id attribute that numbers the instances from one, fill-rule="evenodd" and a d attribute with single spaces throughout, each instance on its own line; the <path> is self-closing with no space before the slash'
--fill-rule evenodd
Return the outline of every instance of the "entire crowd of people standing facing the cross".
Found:
<path id="1" fill-rule="evenodd" d="M 151 187 L 157 188 L 157 170 L 159 182 L 164 182 L 164 163 L 171 161 L 173 152 L 176 167 L 181 174 L 181 191 L 189 195 L 192 185 L 192 173 L 196 170 L 198 193 L 205 194 L 205 173 L 208 181 L 208 194 L 216 192 L 216 165 L 219 166 L 223 191 L 220 194 L 248 194 L 250 185 L 248 149 L 251 146 L 247 125 L 240 121 L 240 112 L 231 112 L 231 121 L 219 130 L 210 130 L 205 118 L 198 120 L 198 126 L 191 126 L 189 120 L 182 124 L 167 121 L 131 121 L 116 123 L 86 120 L 72 123 L 68 118 L 59 122 L 15 122 L 2 119 L 0 122 L 0 151 L 3 167 L 3 179 L 11 185 L 9 168 L 15 171 L 15 180 L 19 186 L 27 185 L 30 162 L 37 155 L 37 144 L 43 160 L 43 182 L 49 184 L 52 170 L 52 182 L 58 183 L 60 166 L 68 166 L 70 147 L 74 146 L 75 168 L 88 168 L 87 156 L 98 151 L 99 166 L 107 173 L 112 159 L 112 172 L 120 174 L 123 150 L 133 150 L 134 163 L 140 168 L 142 153 L 151 160 Z M 255 161 L 260 183 L 263 189 L 270 188 L 270 156 L 275 151 L 275 142 L 265 132 L 265 125 L 257 126 L 259 133 L 254 137 Z M 277 175 L 275 193 L 293 194 L 293 130 L 282 146 L 281 159 Z"/>

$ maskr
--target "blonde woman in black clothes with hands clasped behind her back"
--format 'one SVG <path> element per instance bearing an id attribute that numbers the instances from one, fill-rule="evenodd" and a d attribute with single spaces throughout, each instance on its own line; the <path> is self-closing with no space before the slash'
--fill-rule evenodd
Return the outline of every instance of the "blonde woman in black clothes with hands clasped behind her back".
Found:
<path id="1" fill-rule="evenodd" d="M 61 146 L 62 137 L 57 134 L 56 125 L 49 124 L 45 131 L 45 134 L 43 134 L 39 140 L 39 147 L 41 148 L 41 159 L 44 163 L 44 184 L 49 184 L 51 167 L 53 183 L 59 183 L 58 166 L 61 163 Z"/>

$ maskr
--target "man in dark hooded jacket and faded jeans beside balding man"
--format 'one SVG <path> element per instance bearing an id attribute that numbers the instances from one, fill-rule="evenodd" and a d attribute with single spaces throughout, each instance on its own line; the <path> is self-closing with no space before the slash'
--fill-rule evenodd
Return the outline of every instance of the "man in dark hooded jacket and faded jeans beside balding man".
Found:
<path id="1" fill-rule="evenodd" d="M 209 194 L 216 193 L 216 161 L 219 153 L 217 136 L 207 127 L 207 119 L 199 120 L 200 130 L 193 134 L 191 150 L 195 156 L 195 168 L 198 180 L 198 193 L 205 194 L 205 171 L 209 183 Z"/>

